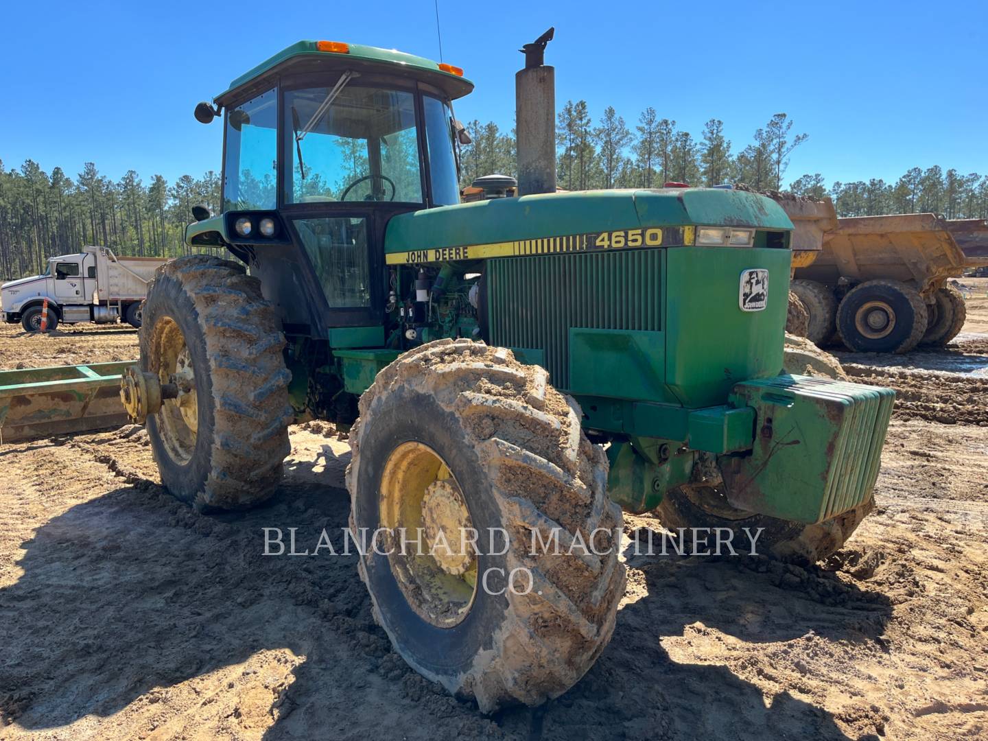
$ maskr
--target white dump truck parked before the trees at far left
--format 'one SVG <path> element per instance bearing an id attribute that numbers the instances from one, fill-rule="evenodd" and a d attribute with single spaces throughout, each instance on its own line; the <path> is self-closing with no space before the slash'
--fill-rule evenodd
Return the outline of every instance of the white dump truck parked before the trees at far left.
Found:
<path id="1" fill-rule="evenodd" d="M 48 272 L 0 287 L 0 310 L 8 324 L 20 321 L 28 332 L 41 330 L 48 301 L 48 330 L 59 323 L 125 321 L 140 326 L 140 306 L 158 257 L 118 257 L 109 247 L 83 247 L 48 260 Z"/>

